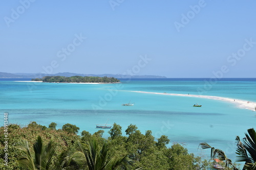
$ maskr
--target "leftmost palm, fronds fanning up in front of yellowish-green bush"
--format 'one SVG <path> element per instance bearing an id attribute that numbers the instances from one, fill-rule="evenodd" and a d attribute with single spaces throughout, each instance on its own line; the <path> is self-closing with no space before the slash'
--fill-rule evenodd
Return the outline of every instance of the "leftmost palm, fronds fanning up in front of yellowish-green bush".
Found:
<path id="1" fill-rule="evenodd" d="M 15 148 L 22 151 L 22 157 L 19 158 L 18 163 L 24 169 L 28 170 L 57 170 L 57 165 L 53 162 L 53 155 L 56 147 L 52 141 L 47 145 L 43 145 L 40 136 L 37 137 L 33 144 L 34 153 L 29 149 L 28 140 L 20 142 Z"/>

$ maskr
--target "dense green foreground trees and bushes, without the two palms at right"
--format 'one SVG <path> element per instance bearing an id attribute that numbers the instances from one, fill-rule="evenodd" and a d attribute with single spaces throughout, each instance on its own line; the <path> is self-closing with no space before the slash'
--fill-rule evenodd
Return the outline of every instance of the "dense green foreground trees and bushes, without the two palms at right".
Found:
<path id="1" fill-rule="evenodd" d="M 10 155 L 8 164 L 10 166 L 7 168 L 0 164 L 0 169 L 20 170 L 22 164 L 18 164 L 18 162 L 20 163 L 22 160 L 26 160 L 26 165 L 33 167 L 33 163 L 34 165 L 40 164 L 39 159 L 43 160 L 41 158 L 49 160 L 48 163 L 41 162 L 41 166 L 55 162 L 56 170 L 58 168 L 88 170 L 93 167 L 96 169 L 104 167 L 104 169 L 142 168 L 152 170 L 206 169 L 207 166 L 209 167 L 207 161 L 188 154 L 182 145 L 174 144 L 172 148 L 166 148 L 165 145 L 169 142 L 167 136 L 161 136 L 156 142 L 151 131 L 142 134 L 136 125 L 128 126 L 125 131 L 128 136 L 122 136 L 122 127 L 115 123 L 109 131 L 108 139 L 102 138 L 104 132 L 102 130 L 93 135 L 83 130 L 81 136 L 78 136 L 76 133 L 79 128 L 75 125 L 66 124 L 62 130 L 56 130 L 55 123 L 50 125 L 49 128 L 43 128 L 44 126 L 32 122 L 23 128 L 18 125 L 9 126 L 8 150 Z M 3 129 L 4 127 L 0 128 L 2 131 Z M 38 139 L 38 136 L 41 136 L 41 139 Z M 25 141 L 23 149 L 25 148 L 26 152 L 14 147 L 14 143 L 20 143 L 20 140 Z M 0 136 L 0 141 L 0 161 L 3 162 L 3 136 Z M 51 147 L 49 143 L 54 143 L 54 147 Z M 49 149 L 47 150 L 47 148 Z M 54 154 L 50 148 L 54 148 Z M 18 161 L 19 158 L 23 159 Z M 30 163 L 28 163 L 29 160 L 31 160 Z M 52 165 L 47 166 L 48 169 L 50 167 Z M 35 166 L 35 168 L 37 167 Z"/>

